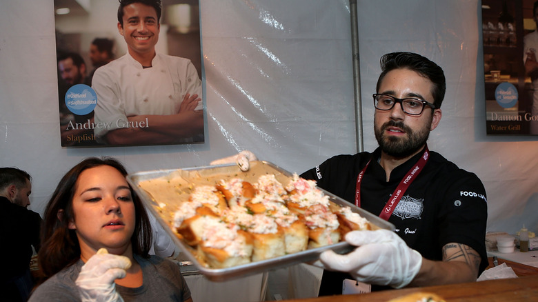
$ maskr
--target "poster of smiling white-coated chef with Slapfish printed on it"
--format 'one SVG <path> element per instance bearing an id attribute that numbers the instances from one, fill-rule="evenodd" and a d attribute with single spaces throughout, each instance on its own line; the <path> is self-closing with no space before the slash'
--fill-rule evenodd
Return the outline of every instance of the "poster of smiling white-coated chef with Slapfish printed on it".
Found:
<path id="1" fill-rule="evenodd" d="M 155 3 L 54 0 L 63 147 L 204 142 L 199 2 Z"/>

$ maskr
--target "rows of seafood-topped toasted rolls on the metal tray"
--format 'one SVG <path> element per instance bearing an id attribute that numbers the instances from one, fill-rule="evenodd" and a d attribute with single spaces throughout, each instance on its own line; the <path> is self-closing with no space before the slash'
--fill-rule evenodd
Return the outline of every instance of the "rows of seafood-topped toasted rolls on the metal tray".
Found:
<path id="1" fill-rule="evenodd" d="M 177 236 L 211 268 L 272 259 L 338 243 L 370 223 L 332 203 L 315 181 L 297 174 L 284 186 L 274 174 L 250 183 L 240 177 L 193 188 L 174 214 Z"/>

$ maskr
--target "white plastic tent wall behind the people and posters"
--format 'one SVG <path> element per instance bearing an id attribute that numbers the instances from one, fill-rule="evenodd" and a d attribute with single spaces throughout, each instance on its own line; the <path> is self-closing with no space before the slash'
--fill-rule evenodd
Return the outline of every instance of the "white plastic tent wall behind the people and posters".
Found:
<path id="1" fill-rule="evenodd" d="M 116 6 L 91 0 L 90 16 L 113 15 Z M 484 182 L 488 230 L 516 232 L 525 223 L 537 232 L 538 137 L 486 136 L 480 2 L 363 0 L 357 8 L 364 149 L 377 147 L 371 94 L 379 57 L 423 54 L 447 78 L 430 149 Z M 206 143 L 117 148 L 60 146 L 53 10 L 53 0 L 0 3 L 0 166 L 32 174 L 32 210 L 42 214 L 61 176 L 90 156 L 117 157 L 137 172 L 207 165 L 251 150 L 303 172 L 356 152 L 346 0 L 201 1 Z M 80 32 L 84 22 L 98 21 L 62 26 Z"/>

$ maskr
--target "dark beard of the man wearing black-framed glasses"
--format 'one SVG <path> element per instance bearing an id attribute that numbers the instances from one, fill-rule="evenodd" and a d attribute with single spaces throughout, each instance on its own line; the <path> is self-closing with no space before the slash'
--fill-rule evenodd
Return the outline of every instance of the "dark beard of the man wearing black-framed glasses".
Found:
<path id="1" fill-rule="evenodd" d="M 396 158 L 410 157 L 421 150 L 428 141 L 430 136 L 430 123 L 427 123 L 423 128 L 414 131 L 401 121 L 388 121 L 381 125 L 381 128 L 374 127 L 375 139 L 381 147 L 381 151 Z M 386 135 L 388 127 L 397 127 L 405 131 L 407 137 L 393 137 Z"/>

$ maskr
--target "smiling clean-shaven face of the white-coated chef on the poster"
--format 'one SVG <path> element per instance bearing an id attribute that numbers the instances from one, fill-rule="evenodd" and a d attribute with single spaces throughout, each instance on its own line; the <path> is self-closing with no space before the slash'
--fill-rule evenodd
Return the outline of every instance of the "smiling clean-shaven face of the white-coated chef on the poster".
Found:
<path id="1" fill-rule="evenodd" d="M 123 8 L 123 26 L 119 33 L 127 43 L 131 55 L 153 54 L 159 40 L 159 20 L 155 8 L 142 3 L 132 3 Z"/>

